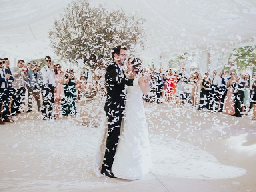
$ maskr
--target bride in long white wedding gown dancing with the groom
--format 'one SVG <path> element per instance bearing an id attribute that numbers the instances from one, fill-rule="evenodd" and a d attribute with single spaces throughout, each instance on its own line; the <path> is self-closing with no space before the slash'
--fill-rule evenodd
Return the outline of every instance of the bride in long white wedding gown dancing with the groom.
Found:
<path id="1" fill-rule="evenodd" d="M 127 63 L 126 78 L 138 78 L 141 75 L 141 60 L 129 58 Z M 150 78 L 149 76 L 147 78 Z M 150 172 L 151 149 L 148 139 L 148 125 L 142 95 L 149 92 L 149 81 L 138 86 L 127 86 L 125 114 L 122 121 L 118 147 L 112 165 L 112 173 L 122 179 L 140 179 Z M 98 177 L 100 174 L 106 138 L 108 133 L 107 118 L 104 117 L 100 124 L 100 137 L 94 170 Z"/>

